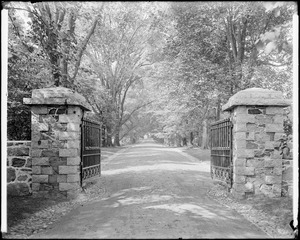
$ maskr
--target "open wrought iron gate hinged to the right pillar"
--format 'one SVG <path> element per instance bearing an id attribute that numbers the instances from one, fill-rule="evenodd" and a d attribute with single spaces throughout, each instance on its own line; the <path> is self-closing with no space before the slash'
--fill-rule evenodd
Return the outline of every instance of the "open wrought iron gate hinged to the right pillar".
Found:
<path id="1" fill-rule="evenodd" d="M 232 123 L 229 118 L 211 124 L 211 177 L 232 186 Z"/>

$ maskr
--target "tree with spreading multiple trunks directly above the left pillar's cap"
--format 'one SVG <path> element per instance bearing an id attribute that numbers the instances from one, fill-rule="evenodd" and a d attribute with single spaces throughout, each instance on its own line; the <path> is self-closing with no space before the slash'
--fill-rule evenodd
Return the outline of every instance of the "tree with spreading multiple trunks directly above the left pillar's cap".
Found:
<path id="1" fill-rule="evenodd" d="M 83 53 L 101 21 L 104 3 L 95 6 L 79 2 L 41 2 L 27 7 L 33 38 L 48 57 L 55 86 L 74 88 Z M 88 31 L 76 26 L 78 20 L 89 26 Z"/>

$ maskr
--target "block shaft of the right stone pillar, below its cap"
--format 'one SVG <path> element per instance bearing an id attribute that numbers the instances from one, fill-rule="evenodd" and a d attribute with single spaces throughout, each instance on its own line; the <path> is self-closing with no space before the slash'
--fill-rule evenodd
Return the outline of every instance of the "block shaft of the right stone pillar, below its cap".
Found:
<path id="1" fill-rule="evenodd" d="M 238 106 L 232 121 L 235 192 L 281 196 L 282 108 Z"/>

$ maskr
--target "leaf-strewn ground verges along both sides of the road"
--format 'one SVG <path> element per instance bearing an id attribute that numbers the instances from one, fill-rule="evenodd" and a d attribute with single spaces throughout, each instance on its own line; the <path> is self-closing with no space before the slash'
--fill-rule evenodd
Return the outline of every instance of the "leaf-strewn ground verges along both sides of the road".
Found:
<path id="1" fill-rule="evenodd" d="M 126 147 L 102 148 L 102 160 Z M 210 151 L 199 148 L 184 148 L 183 152 L 190 154 L 201 161 L 209 161 Z M 216 185 L 209 194 L 222 204 L 234 208 L 250 221 L 256 223 L 273 237 L 292 237 L 289 222 L 293 219 L 292 199 L 289 197 L 266 198 L 256 196 L 243 200 L 234 199 L 226 189 Z M 65 199 L 43 199 L 24 197 L 7 198 L 8 229 L 17 225 L 36 212 L 51 206 L 67 203 Z M 269 230 L 268 230 L 269 228 Z M 271 229 L 271 230 L 270 230 Z M 274 230 L 275 229 L 275 230 Z"/>

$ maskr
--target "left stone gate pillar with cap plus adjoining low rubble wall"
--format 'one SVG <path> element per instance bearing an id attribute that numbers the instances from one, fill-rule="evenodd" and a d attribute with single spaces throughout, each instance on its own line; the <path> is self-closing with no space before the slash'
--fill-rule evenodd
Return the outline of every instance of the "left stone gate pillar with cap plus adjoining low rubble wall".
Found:
<path id="1" fill-rule="evenodd" d="M 7 193 L 74 198 L 81 186 L 81 123 L 90 105 L 64 87 L 34 89 L 31 141 L 7 143 Z"/>

